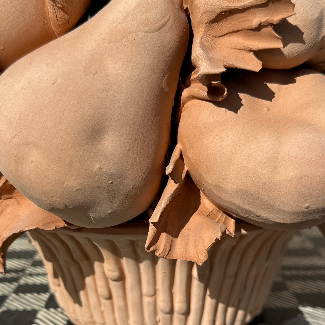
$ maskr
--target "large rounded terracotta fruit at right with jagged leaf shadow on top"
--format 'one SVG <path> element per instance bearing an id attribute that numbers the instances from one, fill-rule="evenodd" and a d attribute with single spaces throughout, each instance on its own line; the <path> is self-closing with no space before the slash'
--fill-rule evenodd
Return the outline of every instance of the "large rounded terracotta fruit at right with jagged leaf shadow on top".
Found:
<path id="1" fill-rule="evenodd" d="M 195 184 L 222 211 L 257 226 L 324 222 L 325 76 L 235 71 L 222 82 L 228 96 L 220 102 L 183 93 L 178 143 Z"/>

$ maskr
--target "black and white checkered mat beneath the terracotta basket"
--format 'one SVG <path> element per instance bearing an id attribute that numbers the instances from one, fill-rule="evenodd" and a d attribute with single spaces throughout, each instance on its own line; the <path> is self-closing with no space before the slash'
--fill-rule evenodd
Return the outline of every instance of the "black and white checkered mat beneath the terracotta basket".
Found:
<path id="1" fill-rule="evenodd" d="M 10 246 L 7 269 L 0 275 L 0 325 L 72 325 L 27 235 Z M 325 239 L 316 227 L 295 233 L 263 313 L 250 325 L 325 325 Z"/>

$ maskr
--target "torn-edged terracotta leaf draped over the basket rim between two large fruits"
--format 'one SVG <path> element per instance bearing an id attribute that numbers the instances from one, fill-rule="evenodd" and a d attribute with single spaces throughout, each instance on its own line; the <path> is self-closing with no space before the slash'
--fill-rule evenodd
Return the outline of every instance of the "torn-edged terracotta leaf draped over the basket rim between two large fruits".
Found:
<path id="1" fill-rule="evenodd" d="M 167 172 L 170 179 L 149 219 L 146 250 L 159 257 L 201 265 L 216 239 L 225 232 L 234 236 L 235 220 L 215 208 L 200 193 L 186 174 L 178 147 Z"/>

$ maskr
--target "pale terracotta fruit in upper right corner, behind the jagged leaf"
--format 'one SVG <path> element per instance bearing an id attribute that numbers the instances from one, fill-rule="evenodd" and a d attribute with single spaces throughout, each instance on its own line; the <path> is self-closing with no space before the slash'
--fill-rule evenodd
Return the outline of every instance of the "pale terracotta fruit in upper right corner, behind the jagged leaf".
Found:
<path id="1" fill-rule="evenodd" d="M 263 67 L 290 69 L 302 63 L 325 70 L 325 1 L 292 0 L 295 15 L 282 20 L 274 30 L 282 37 L 280 49 L 255 52 Z"/>

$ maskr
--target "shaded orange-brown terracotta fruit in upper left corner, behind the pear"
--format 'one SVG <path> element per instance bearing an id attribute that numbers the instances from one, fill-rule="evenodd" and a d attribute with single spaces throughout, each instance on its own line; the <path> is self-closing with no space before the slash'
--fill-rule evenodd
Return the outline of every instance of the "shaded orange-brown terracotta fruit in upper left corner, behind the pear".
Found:
<path id="1" fill-rule="evenodd" d="M 90 0 L 0 0 L 0 72 L 74 27 Z"/>

